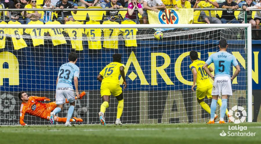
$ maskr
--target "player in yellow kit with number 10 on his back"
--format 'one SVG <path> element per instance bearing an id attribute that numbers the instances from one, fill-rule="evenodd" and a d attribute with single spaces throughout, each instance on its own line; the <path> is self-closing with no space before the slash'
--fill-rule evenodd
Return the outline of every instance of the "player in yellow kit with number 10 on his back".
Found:
<path id="1" fill-rule="evenodd" d="M 192 64 L 189 66 L 189 68 L 193 73 L 193 86 L 191 87 L 191 90 L 194 91 L 194 87 L 196 86 L 197 83 L 197 89 L 196 89 L 197 102 L 206 112 L 210 114 L 210 107 L 208 104 L 204 102 L 203 99 L 205 98 L 205 96 L 207 96 L 208 99 L 210 98 L 212 99 L 211 92 L 212 92 L 213 85 L 209 80 L 209 76 L 203 69 L 205 62 L 202 60 L 198 60 L 198 54 L 196 51 L 191 51 L 189 53 L 189 56 L 192 61 Z M 213 69 L 210 66 L 208 66 L 208 69 L 210 72 L 213 71 Z M 218 99 L 218 104 L 221 107 L 222 101 L 220 98 Z M 226 115 L 228 116 L 228 118 L 231 116 L 231 114 L 229 114 L 227 109 L 226 109 Z M 215 114 L 214 120 L 217 117 L 218 115 Z"/>

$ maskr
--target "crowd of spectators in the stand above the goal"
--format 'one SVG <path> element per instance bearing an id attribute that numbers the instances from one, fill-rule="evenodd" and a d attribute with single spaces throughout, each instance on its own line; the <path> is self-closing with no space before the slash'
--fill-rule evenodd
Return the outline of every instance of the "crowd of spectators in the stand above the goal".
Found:
<path id="1" fill-rule="evenodd" d="M 78 6 L 84 8 L 88 8 L 91 6 L 112 9 L 128 8 L 126 15 L 122 17 L 119 16 L 118 10 L 106 11 L 106 15 L 103 20 L 116 21 L 119 24 L 121 24 L 121 22 L 126 19 L 133 20 L 136 24 L 138 24 L 139 20 L 137 17 L 137 13 L 142 15 L 143 23 L 148 24 L 148 14 L 146 10 L 153 10 L 155 12 L 159 12 L 159 10 L 166 8 L 175 8 L 176 10 L 179 10 L 181 8 L 242 8 L 245 11 L 247 11 L 247 22 L 252 24 L 252 28 L 259 28 L 261 13 L 256 12 L 255 17 L 253 19 L 252 12 L 249 11 L 249 9 L 261 9 L 260 3 L 261 0 L 1 0 L 1 4 L 3 4 L 5 8 L 14 9 L 40 9 L 41 6 L 43 6 L 43 8 L 48 9 L 77 9 Z M 143 10 L 143 8 L 146 10 Z M 245 11 L 240 11 L 238 19 L 236 19 L 235 11 L 222 11 L 222 15 L 219 18 L 216 16 L 214 10 L 210 10 L 210 13 L 208 10 L 204 10 L 200 12 L 198 21 L 202 21 L 207 24 L 244 23 Z M 10 19 L 17 20 L 21 24 L 28 24 L 31 20 L 35 19 L 42 21 L 43 23 L 46 23 L 52 20 L 52 12 L 57 13 L 56 19 L 61 24 L 73 20 L 73 15 L 71 14 L 71 11 L 68 10 L 63 11 L 63 18 L 61 11 L 45 11 L 43 19 L 41 19 L 42 14 L 39 11 L 11 11 L 11 18 L 10 15 L 8 15 L 7 13 L 7 19 L 8 21 Z M 73 13 L 76 14 L 77 11 L 73 11 Z M 62 21 L 62 19 L 64 21 Z"/>

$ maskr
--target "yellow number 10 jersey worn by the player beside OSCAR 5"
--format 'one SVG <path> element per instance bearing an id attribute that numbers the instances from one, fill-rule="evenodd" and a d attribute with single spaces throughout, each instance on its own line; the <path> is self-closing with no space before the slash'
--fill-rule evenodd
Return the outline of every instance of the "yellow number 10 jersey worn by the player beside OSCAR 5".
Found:
<path id="1" fill-rule="evenodd" d="M 197 89 L 208 87 L 212 85 L 212 83 L 209 80 L 209 75 L 204 71 L 203 66 L 205 62 L 202 60 L 195 60 L 191 65 L 189 65 L 189 68 L 191 71 L 193 69 L 196 69 L 197 71 Z M 208 66 L 209 68 L 210 66 Z"/>

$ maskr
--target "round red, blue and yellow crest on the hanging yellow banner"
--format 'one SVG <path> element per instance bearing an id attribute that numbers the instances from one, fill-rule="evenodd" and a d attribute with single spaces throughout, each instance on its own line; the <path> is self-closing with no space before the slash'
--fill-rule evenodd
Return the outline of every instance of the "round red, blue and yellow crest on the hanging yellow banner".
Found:
<path id="1" fill-rule="evenodd" d="M 161 24 L 178 24 L 179 17 L 174 9 L 160 10 L 159 20 Z"/>

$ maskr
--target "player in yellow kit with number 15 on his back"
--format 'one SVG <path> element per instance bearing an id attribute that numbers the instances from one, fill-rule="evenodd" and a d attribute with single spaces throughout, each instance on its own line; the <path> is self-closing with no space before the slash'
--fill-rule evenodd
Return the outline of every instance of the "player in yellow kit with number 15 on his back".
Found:
<path id="1" fill-rule="evenodd" d="M 123 111 L 123 92 L 122 88 L 119 85 L 119 75 L 122 76 L 124 88 L 126 89 L 127 83 L 125 80 L 125 65 L 122 62 L 121 54 L 113 55 L 113 62 L 105 66 L 105 68 L 97 76 L 97 80 L 102 82 L 101 84 L 101 96 L 102 96 L 102 105 L 101 111 L 99 112 L 100 123 L 105 124 L 104 113 L 107 107 L 109 107 L 110 95 L 113 94 L 118 100 L 117 107 L 117 119 L 115 125 L 123 125 L 120 121 Z"/>

